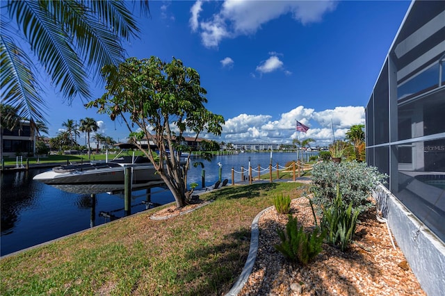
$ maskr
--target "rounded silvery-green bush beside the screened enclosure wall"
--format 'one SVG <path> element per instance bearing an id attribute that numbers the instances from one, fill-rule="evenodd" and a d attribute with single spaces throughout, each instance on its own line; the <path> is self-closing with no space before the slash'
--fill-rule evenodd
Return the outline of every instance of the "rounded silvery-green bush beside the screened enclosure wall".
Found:
<path id="1" fill-rule="evenodd" d="M 372 206 L 369 202 L 371 192 L 386 178 L 386 174 L 381 174 L 376 167 L 366 163 L 323 161 L 314 165 L 310 190 L 314 193 L 314 204 L 329 208 L 335 202 L 335 186 L 338 184 L 343 202 L 352 203 L 353 209 L 357 208 L 362 212 Z"/>

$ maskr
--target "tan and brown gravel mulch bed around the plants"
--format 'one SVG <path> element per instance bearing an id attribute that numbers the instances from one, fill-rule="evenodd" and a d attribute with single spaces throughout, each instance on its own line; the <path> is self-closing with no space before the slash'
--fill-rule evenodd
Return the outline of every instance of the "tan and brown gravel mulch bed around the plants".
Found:
<path id="1" fill-rule="evenodd" d="M 291 213 L 305 229 L 314 226 L 307 199 L 293 199 Z M 259 219 L 259 248 L 250 277 L 238 295 L 426 295 L 405 257 L 394 249 L 385 223 L 369 213 L 357 224 L 347 252 L 323 245 L 314 261 L 289 263 L 274 245 L 287 215 L 271 208 Z"/>

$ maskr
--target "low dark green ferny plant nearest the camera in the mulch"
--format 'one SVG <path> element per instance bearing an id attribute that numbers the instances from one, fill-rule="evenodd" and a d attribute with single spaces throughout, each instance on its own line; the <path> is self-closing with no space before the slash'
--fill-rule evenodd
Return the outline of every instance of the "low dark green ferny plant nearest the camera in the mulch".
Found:
<path id="1" fill-rule="evenodd" d="M 323 250 L 321 245 L 325 233 L 320 233 L 318 228 L 315 228 L 312 233 L 305 233 L 303 227 L 298 229 L 297 218 L 293 218 L 292 215 L 289 215 L 286 233 L 282 230 L 278 230 L 277 233 L 280 236 L 281 244 L 274 247 L 290 261 L 306 265 Z"/>

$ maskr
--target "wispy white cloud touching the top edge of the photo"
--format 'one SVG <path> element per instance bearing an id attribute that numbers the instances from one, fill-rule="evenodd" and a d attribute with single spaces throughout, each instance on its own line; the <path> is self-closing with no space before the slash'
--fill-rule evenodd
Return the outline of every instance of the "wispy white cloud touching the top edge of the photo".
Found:
<path id="1" fill-rule="evenodd" d="M 189 20 L 192 31 L 201 34 L 205 47 L 218 47 L 223 38 L 251 35 L 272 19 L 291 13 L 301 24 L 320 22 L 323 15 L 336 8 L 334 1 L 250 1 L 226 0 L 220 11 L 200 21 L 202 1 L 191 8 Z"/>

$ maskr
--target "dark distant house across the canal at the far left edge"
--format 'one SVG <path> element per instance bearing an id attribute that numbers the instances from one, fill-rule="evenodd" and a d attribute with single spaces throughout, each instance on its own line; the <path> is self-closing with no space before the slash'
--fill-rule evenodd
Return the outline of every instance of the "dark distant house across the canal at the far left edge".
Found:
<path id="1" fill-rule="evenodd" d="M 22 121 L 13 131 L 1 128 L 1 158 L 32 155 L 34 140 L 29 122 Z"/>

